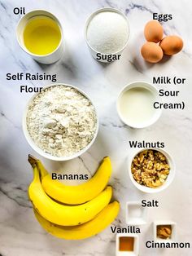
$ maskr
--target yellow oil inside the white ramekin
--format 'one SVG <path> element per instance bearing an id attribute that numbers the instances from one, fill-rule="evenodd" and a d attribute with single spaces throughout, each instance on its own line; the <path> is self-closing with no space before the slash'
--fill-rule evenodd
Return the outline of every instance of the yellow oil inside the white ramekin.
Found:
<path id="1" fill-rule="evenodd" d="M 59 25 L 43 15 L 28 20 L 24 28 L 24 45 L 35 55 L 47 55 L 55 51 L 61 40 Z"/>

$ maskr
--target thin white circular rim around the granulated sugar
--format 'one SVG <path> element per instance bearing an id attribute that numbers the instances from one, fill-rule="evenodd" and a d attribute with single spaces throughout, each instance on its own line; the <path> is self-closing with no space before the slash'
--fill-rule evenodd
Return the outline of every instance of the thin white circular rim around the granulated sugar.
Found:
<path id="1" fill-rule="evenodd" d="M 128 30 L 129 30 L 129 35 L 127 38 L 127 42 L 124 44 L 124 46 L 122 48 L 120 48 L 120 50 L 115 51 L 115 52 L 111 52 L 111 53 L 103 53 L 100 51 L 96 51 L 92 46 L 89 45 L 88 39 L 87 39 L 87 29 L 89 27 L 89 23 L 91 20 L 93 20 L 95 15 L 98 15 L 98 13 L 103 12 L 103 11 L 113 11 L 116 12 L 120 15 L 122 15 L 124 17 L 124 19 L 127 21 L 127 25 L 128 25 Z M 116 8 L 110 8 L 110 7 L 103 7 L 103 8 L 99 8 L 98 10 L 94 11 L 91 15 L 89 15 L 88 19 L 85 22 L 85 29 L 84 29 L 84 37 L 85 37 L 85 42 L 87 43 L 87 45 L 89 46 L 89 48 L 94 51 L 95 53 L 100 53 L 102 55 L 117 55 L 119 54 L 120 51 L 124 51 L 124 48 L 128 45 L 129 42 L 129 36 L 130 36 L 130 26 L 129 26 L 129 20 L 127 18 L 126 15 L 124 15 L 124 13 Z"/>

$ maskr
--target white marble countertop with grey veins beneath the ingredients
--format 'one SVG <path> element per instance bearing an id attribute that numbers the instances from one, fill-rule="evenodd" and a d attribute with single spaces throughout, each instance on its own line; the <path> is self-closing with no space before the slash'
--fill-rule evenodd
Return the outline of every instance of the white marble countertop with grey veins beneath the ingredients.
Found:
<path id="1" fill-rule="evenodd" d="M 144 3 L 145 2 L 145 3 Z M 37 64 L 20 49 L 15 39 L 15 27 L 20 15 L 14 7 L 26 11 L 46 9 L 55 13 L 63 24 L 66 51 L 56 64 Z M 115 7 L 127 15 L 130 24 L 129 44 L 120 61 L 100 64 L 89 54 L 85 44 L 85 20 L 101 7 Z M 7 73 L 57 73 L 57 82 L 78 86 L 93 99 L 98 109 L 100 126 L 94 145 L 73 161 L 56 163 L 46 159 L 48 170 L 77 170 L 94 174 L 98 162 L 111 157 L 111 185 L 121 209 L 116 224 L 126 227 L 127 201 L 158 200 L 159 207 L 149 209 L 148 222 L 140 235 L 141 256 L 190 256 L 192 249 L 146 249 L 145 242 L 153 239 L 151 223 L 155 219 L 170 219 L 177 223 L 177 240 L 192 246 L 191 220 L 192 186 L 190 146 L 192 143 L 192 33 L 190 0 L 0 0 L 0 255 L 1 256 L 115 256 L 116 235 L 108 227 L 98 236 L 85 241 L 63 241 L 46 233 L 33 216 L 28 201 L 28 184 L 33 173 L 28 165 L 28 153 L 40 157 L 30 148 L 22 131 L 22 116 L 30 93 L 20 93 L 20 85 L 45 86 L 51 82 L 7 81 Z M 166 34 L 181 35 L 183 51 L 160 64 L 146 64 L 139 54 L 144 42 L 142 30 L 152 13 L 172 14 L 164 23 Z M 123 86 L 135 80 L 152 82 L 154 76 L 185 77 L 185 85 L 158 86 L 180 90 L 178 100 L 185 101 L 184 110 L 164 110 L 153 126 L 134 130 L 120 121 L 116 113 L 116 97 Z M 172 102 L 171 98 L 164 99 Z M 129 179 L 127 158 L 133 153 L 129 140 L 161 141 L 177 166 L 172 185 L 164 192 L 146 195 L 139 192 Z M 191 197 L 190 197 L 191 196 Z"/>

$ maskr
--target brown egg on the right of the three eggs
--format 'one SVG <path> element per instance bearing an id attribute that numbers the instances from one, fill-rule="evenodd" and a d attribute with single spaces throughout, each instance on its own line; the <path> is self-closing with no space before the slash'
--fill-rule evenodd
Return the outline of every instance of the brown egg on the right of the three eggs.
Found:
<path id="1" fill-rule="evenodd" d="M 177 36 L 168 36 L 160 42 L 159 46 L 165 55 L 175 55 L 182 50 L 183 41 Z"/>

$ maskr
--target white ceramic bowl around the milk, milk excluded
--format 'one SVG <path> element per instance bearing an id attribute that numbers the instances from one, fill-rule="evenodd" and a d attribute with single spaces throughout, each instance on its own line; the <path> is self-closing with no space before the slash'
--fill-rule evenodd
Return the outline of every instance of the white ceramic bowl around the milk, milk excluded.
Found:
<path id="1" fill-rule="evenodd" d="M 162 113 L 162 109 L 158 108 L 155 109 L 155 113 L 153 115 L 153 117 L 151 117 L 149 120 L 146 120 L 145 122 L 141 122 L 139 123 L 135 123 L 131 120 L 127 120 L 124 117 L 124 114 L 122 113 L 121 109 L 120 109 L 120 102 L 122 100 L 122 95 L 124 95 L 125 92 L 127 92 L 130 89 L 133 88 L 143 88 L 146 90 L 150 90 L 152 95 L 154 96 L 154 102 L 158 101 L 160 102 L 160 97 L 159 97 L 159 92 L 156 89 L 155 86 L 152 86 L 150 83 L 145 82 L 145 81 L 135 81 L 135 82 L 130 82 L 127 86 L 124 86 L 124 88 L 120 91 L 120 94 L 117 98 L 117 102 L 116 102 L 116 108 L 117 108 L 117 113 L 119 114 L 120 120 L 124 122 L 125 125 L 127 126 L 131 126 L 133 128 L 145 128 L 147 126 L 151 126 L 152 124 L 155 123 L 155 121 L 157 121 Z"/>

